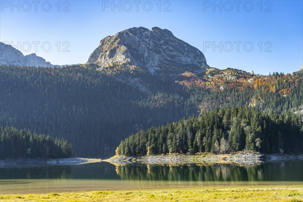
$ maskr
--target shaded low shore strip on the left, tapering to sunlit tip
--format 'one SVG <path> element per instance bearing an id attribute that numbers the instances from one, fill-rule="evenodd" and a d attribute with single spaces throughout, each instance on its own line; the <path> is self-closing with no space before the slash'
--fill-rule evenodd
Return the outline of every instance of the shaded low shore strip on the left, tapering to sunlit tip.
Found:
<path id="1" fill-rule="evenodd" d="M 20 166 L 34 167 L 34 166 L 75 166 L 89 163 L 102 162 L 101 159 L 88 159 L 88 158 L 62 158 L 62 159 L 5 159 L 0 160 L 0 168 L 17 168 Z"/>

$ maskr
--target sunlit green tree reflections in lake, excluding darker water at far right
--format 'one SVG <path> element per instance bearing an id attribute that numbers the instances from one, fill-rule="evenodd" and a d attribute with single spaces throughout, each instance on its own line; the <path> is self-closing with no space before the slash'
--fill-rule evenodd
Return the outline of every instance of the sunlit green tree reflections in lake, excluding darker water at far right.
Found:
<path id="1" fill-rule="evenodd" d="M 173 181 L 258 181 L 263 179 L 260 165 L 119 165 L 116 173 L 123 180 Z"/>

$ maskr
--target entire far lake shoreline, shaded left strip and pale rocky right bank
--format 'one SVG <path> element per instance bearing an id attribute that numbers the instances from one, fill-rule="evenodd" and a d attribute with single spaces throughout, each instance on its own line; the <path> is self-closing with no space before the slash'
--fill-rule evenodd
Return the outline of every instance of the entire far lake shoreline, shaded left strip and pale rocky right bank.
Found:
<path id="1" fill-rule="evenodd" d="M 63 158 L 63 159 L 6 159 L 0 160 L 0 168 L 18 168 L 20 166 L 75 166 L 89 163 L 108 162 L 114 165 L 146 164 L 146 165 L 185 165 L 185 164 L 260 164 L 269 161 L 303 160 L 303 155 L 261 154 L 261 153 L 232 153 L 195 155 L 171 154 L 150 156 L 113 156 L 110 159 Z"/>

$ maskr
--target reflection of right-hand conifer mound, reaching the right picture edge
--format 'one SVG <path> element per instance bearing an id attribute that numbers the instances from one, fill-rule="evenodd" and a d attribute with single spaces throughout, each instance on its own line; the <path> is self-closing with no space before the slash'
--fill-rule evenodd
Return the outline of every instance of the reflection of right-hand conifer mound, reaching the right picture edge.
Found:
<path id="1" fill-rule="evenodd" d="M 256 165 L 124 165 L 117 166 L 116 172 L 123 180 L 297 181 L 302 180 L 302 174 L 298 175 L 300 168 L 302 161 L 288 162 L 286 167 L 281 162 Z"/>

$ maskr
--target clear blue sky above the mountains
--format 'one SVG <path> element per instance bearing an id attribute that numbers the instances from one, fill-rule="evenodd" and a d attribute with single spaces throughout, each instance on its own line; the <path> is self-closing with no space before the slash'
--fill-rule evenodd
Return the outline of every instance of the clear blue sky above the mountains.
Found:
<path id="1" fill-rule="evenodd" d="M 161 1 L 161 8 L 159 1 L 31 2 L 1 1 L 0 41 L 52 64 L 85 63 L 102 38 L 139 26 L 169 29 L 200 49 L 211 67 L 269 74 L 303 64 L 302 1 Z"/>

